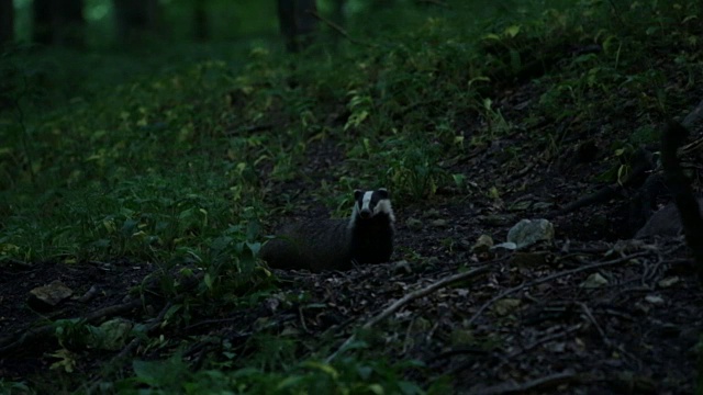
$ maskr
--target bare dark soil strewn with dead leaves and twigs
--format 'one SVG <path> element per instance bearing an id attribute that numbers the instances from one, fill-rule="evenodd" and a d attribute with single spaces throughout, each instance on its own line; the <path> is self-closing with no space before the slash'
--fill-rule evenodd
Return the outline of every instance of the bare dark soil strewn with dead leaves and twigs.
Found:
<path id="1" fill-rule="evenodd" d="M 529 83 L 507 91 L 500 106 L 529 105 L 536 100 L 531 91 Z M 466 124 L 468 134 L 471 120 Z M 600 149 L 612 138 L 602 134 L 592 143 Z M 518 154 L 506 160 L 505 147 L 518 147 Z M 188 339 L 208 335 L 236 342 L 261 326 L 293 334 L 301 341 L 327 338 L 338 346 L 393 302 L 464 272 L 460 281 L 408 301 L 376 321 L 372 330 L 357 336 L 382 348 L 391 361 L 422 361 L 423 373 L 410 372 L 411 379 L 446 375 L 459 393 L 692 393 L 694 350 L 703 329 L 700 284 L 681 238 L 631 239 L 626 201 L 553 217 L 553 244 L 517 252 L 472 250 L 481 235 L 500 242 L 520 219 L 548 216 L 582 198 L 584 191 L 600 188 L 584 181 L 603 171 L 599 161 L 566 160 L 574 150 L 565 147 L 559 160 L 547 160 L 544 148 L 525 134 L 496 138 L 453 163 L 451 171 L 467 174 L 476 190 L 499 184 L 512 191 L 501 200 L 447 190 L 439 191 L 431 204 L 397 205 L 392 262 L 344 273 L 275 271 L 280 290 L 265 302 L 234 314 L 199 317 L 176 331 L 167 327 L 161 335 L 187 342 L 183 357 L 189 361 L 203 359 L 221 345 Z M 341 158 L 344 153 L 334 140 L 311 146 L 305 165 L 309 180 L 327 177 L 330 163 Z M 312 181 L 280 183 L 272 195 L 295 192 L 306 216 L 324 216 L 321 205 L 305 195 L 314 188 Z M 518 202 L 528 204 L 515 208 Z M 408 226 L 410 218 L 422 225 Z M 406 251 L 415 258 L 399 259 Z M 0 360 L 0 376 L 5 380 L 46 383 L 38 377 L 62 359 L 74 371 L 94 377 L 102 374 L 105 361 L 120 357 L 119 351 L 91 349 L 80 351 L 79 358 L 47 351 L 54 349 L 55 340 L 37 335 L 46 328 L 25 305 L 36 286 L 59 280 L 77 296 L 91 287 L 99 290 L 92 297 L 74 298 L 46 313 L 47 321 L 89 315 L 101 320 L 118 314 L 137 318 L 146 312 L 156 315 L 155 306 L 163 306 L 140 302 L 126 292 L 155 270 L 147 262 L 44 262 L 0 270 L 0 332 L 27 336 L 19 347 L 10 346 L 12 358 Z M 584 286 L 595 273 L 602 281 Z M 304 301 L 290 302 L 302 294 L 308 295 Z M 160 352 L 160 348 L 142 350 L 146 359 Z M 90 385 L 87 382 L 81 388 Z"/>

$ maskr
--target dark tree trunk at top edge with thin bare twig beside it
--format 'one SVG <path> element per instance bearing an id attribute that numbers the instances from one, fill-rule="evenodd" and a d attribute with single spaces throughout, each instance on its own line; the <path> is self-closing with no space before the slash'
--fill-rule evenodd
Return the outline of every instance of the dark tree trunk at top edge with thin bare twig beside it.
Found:
<path id="1" fill-rule="evenodd" d="M 278 21 L 290 52 L 299 52 L 311 44 L 317 30 L 315 0 L 278 0 Z"/>

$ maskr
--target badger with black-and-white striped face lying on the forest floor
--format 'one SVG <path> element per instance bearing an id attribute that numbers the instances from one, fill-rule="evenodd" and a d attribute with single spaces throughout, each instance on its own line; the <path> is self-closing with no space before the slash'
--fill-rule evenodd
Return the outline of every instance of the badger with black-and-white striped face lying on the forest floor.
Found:
<path id="1" fill-rule="evenodd" d="M 384 188 L 354 191 L 347 219 L 306 221 L 284 226 L 260 251 L 277 269 L 349 270 L 388 262 L 393 253 L 395 216 Z"/>

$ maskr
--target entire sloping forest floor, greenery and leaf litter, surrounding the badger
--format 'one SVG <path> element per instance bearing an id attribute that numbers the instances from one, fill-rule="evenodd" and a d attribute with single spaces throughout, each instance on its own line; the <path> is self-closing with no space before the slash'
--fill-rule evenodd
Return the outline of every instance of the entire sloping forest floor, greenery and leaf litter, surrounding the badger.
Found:
<path id="1" fill-rule="evenodd" d="M 643 180 L 562 211 L 701 102 L 700 1 L 417 3 L 357 21 L 401 21 L 372 43 L 116 87 L 109 59 L 0 64 L 0 393 L 700 393 L 701 284 L 682 237 L 633 239 Z M 390 262 L 257 260 L 378 187 Z M 486 245 L 542 218 L 551 240 Z"/>

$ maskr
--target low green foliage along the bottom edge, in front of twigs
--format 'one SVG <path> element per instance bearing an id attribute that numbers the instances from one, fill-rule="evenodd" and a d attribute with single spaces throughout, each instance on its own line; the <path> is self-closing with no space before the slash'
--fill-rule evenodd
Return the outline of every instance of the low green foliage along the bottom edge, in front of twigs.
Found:
<path id="1" fill-rule="evenodd" d="M 167 361 L 133 363 L 135 377 L 114 384 L 121 394 L 424 394 L 416 384 L 402 379 L 404 370 L 421 364 L 389 364 L 383 360 L 358 361 L 342 358 L 333 363 L 306 360 L 284 372 L 243 368 L 225 372 L 202 370 L 192 373 L 178 357 Z M 138 390 L 137 390 L 138 388 Z"/>

